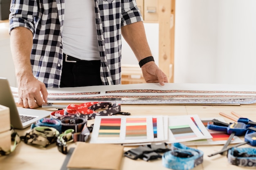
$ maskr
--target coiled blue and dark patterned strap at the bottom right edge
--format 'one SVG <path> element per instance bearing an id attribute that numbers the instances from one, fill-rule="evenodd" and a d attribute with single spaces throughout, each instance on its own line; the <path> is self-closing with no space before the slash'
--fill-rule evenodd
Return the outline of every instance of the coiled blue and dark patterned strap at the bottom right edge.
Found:
<path id="1" fill-rule="evenodd" d="M 227 155 L 228 162 L 236 166 L 256 166 L 255 148 L 231 148 Z"/>

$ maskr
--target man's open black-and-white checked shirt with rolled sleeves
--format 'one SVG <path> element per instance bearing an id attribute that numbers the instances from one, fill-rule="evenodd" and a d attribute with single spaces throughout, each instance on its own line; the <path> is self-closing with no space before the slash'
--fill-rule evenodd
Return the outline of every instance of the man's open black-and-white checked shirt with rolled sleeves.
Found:
<path id="1" fill-rule="evenodd" d="M 63 63 L 65 0 L 11 0 L 9 32 L 22 26 L 33 33 L 30 61 L 47 88 L 59 87 Z M 104 85 L 121 82 L 121 26 L 142 21 L 135 0 L 94 0 Z"/>

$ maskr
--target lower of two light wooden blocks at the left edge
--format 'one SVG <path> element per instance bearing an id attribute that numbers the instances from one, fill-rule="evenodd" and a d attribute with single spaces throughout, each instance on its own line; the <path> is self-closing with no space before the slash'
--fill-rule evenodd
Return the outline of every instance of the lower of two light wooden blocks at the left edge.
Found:
<path id="1" fill-rule="evenodd" d="M 11 130 L 0 133 L 0 150 L 11 151 Z"/>

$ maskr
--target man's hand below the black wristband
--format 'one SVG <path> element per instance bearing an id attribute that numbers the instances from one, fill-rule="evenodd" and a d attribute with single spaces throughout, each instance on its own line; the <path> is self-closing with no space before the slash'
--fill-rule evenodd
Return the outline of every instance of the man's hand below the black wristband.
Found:
<path id="1" fill-rule="evenodd" d="M 164 86 L 168 78 L 155 62 L 148 62 L 141 67 L 143 77 L 147 83 L 159 83 Z"/>

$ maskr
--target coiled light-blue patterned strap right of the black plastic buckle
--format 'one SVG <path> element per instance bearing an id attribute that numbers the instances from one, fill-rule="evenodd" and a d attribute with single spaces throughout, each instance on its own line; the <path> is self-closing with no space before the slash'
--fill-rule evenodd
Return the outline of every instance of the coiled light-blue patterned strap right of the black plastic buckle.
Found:
<path id="1" fill-rule="evenodd" d="M 162 164 L 173 170 L 190 170 L 203 162 L 203 152 L 180 143 L 171 145 L 171 150 L 162 156 Z"/>

